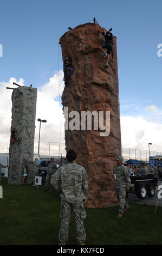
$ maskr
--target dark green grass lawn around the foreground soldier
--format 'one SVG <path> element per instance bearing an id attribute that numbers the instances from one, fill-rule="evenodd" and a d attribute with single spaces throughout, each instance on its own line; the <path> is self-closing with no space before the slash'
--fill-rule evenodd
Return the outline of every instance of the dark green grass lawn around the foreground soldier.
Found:
<path id="1" fill-rule="evenodd" d="M 2 178 L 0 245 L 57 245 L 61 199 L 44 187 L 7 184 Z M 162 208 L 130 203 L 122 218 L 118 206 L 86 209 L 86 245 L 162 245 Z M 71 216 L 67 245 L 76 245 Z"/>

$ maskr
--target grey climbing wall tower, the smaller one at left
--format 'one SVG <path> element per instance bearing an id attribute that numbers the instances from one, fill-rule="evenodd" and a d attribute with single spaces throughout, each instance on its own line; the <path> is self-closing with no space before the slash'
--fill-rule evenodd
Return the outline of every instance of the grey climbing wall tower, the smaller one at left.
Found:
<path id="1" fill-rule="evenodd" d="M 37 89 L 31 87 L 18 87 L 12 93 L 12 129 L 20 129 L 16 133 L 18 142 L 11 144 L 9 148 L 9 184 L 22 184 L 24 160 L 33 161 L 35 114 L 36 114 Z M 29 177 L 29 176 L 28 176 Z M 31 183 L 31 179 L 27 179 Z"/>

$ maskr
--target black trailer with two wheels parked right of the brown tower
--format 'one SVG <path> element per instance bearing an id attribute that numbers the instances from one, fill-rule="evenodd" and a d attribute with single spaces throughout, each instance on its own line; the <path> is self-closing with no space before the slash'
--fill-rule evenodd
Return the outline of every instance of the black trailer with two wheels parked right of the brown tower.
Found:
<path id="1" fill-rule="evenodd" d="M 154 197 L 155 187 L 158 186 L 158 180 L 153 175 L 130 176 L 131 187 L 129 193 L 134 193 L 139 199 L 144 200 L 146 196 Z"/>

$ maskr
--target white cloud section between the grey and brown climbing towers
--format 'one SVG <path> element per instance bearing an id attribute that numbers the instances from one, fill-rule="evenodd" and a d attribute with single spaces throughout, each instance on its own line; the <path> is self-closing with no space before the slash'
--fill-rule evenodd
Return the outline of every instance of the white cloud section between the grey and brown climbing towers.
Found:
<path id="1" fill-rule="evenodd" d="M 40 122 L 38 118 L 46 119 L 47 123 L 41 123 L 41 143 L 40 153 L 49 154 L 49 143 L 47 142 L 64 142 L 64 115 L 61 105 L 61 95 L 64 88 L 63 82 L 63 71 L 54 74 L 53 77 L 49 78 L 49 82 L 38 88 L 37 92 L 37 108 L 36 108 L 36 129 L 35 129 L 35 141 L 38 141 L 39 126 Z M 60 93 L 60 104 L 55 98 L 59 97 Z M 57 99 L 58 100 L 58 99 Z M 61 129 L 61 139 L 60 139 Z M 50 154 L 56 154 L 58 152 L 59 144 L 50 144 Z M 37 145 L 35 143 L 35 152 L 37 153 Z M 61 144 L 61 151 L 65 152 L 64 144 Z"/>

